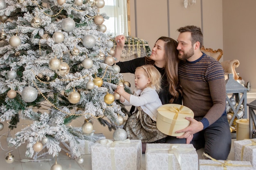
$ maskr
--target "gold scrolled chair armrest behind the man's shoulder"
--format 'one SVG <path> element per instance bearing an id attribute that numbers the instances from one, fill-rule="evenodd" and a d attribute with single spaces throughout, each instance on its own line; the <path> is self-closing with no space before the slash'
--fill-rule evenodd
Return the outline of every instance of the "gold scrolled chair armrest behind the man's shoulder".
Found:
<path id="1" fill-rule="evenodd" d="M 239 76 L 236 73 L 236 68 L 239 66 L 239 64 L 240 64 L 239 60 L 236 60 L 236 59 L 221 62 L 224 72 L 232 73 L 235 80 L 239 78 Z"/>

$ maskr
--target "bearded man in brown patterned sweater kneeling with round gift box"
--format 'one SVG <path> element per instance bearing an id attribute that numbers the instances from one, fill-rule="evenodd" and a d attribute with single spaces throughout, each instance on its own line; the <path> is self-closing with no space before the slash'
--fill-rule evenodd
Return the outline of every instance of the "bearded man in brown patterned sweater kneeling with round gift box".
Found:
<path id="1" fill-rule="evenodd" d="M 185 26 L 177 41 L 179 77 L 183 88 L 183 104 L 193 110 L 195 117 L 177 138 L 192 136 L 191 144 L 214 159 L 226 160 L 231 148 L 231 133 L 226 113 L 226 89 L 221 64 L 200 51 L 202 31 L 197 26 Z M 189 143 L 190 141 L 187 141 Z"/>

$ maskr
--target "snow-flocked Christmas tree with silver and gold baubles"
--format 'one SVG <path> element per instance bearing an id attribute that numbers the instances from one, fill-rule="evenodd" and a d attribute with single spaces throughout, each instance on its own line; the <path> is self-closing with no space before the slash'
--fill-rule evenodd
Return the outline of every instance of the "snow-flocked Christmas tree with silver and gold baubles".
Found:
<path id="1" fill-rule="evenodd" d="M 90 119 L 109 130 L 122 123 L 127 110 L 115 88 L 130 88 L 114 64 L 102 7 L 104 0 L 0 0 L 0 120 L 10 129 L 33 122 L 9 141 L 27 143 L 27 157 L 43 147 L 58 156 L 61 144 L 79 157 L 76 139 L 94 140 Z M 81 128 L 67 126 L 81 116 Z"/>

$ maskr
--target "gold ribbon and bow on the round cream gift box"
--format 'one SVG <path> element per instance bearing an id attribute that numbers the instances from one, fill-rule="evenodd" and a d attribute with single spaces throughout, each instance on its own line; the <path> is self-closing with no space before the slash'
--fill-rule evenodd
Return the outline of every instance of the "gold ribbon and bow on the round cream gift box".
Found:
<path id="1" fill-rule="evenodd" d="M 158 111 L 171 111 L 171 112 L 175 113 L 175 115 L 173 117 L 172 124 L 169 129 L 169 134 L 173 133 L 173 129 L 174 129 L 174 126 L 176 124 L 179 114 L 188 114 L 188 115 L 191 114 L 191 110 L 182 110 L 183 108 L 184 108 L 184 106 L 181 105 L 180 108 L 177 108 L 176 106 L 162 106 L 157 109 Z"/>

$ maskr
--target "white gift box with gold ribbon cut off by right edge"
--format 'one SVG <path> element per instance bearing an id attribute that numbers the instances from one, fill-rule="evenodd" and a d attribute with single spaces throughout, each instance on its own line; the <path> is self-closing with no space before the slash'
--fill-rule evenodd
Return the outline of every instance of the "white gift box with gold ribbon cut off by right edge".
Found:
<path id="1" fill-rule="evenodd" d="M 256 139 L 234 141 L 236 161 L 250 161 L 256 169 Z"/>

